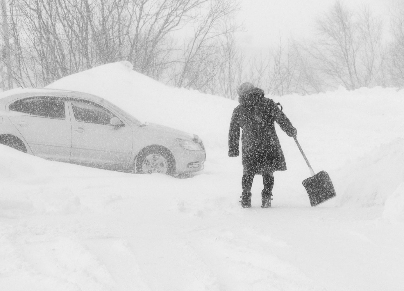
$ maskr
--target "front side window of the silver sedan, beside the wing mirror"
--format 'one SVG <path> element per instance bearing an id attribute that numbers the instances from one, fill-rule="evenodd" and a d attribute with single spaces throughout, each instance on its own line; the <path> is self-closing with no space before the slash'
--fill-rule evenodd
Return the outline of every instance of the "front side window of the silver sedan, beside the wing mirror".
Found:
<path id="1" fill-rule="evenodd" d="M 77 121 L 109 125 L 115 115 L 103 106 L 87 100 L 70 100 Z"/>

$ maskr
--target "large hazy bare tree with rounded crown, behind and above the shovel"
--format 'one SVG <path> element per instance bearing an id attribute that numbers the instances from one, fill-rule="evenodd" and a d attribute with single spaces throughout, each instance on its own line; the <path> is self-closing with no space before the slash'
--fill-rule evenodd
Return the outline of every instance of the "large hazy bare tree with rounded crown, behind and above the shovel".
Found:
<path id="1" fill-rule="evenodd" d="M 307 52 L 333 87 L 375 85 L 381 63 L 381 30 L 380 19 L 368 8 L 356 13 L 337 1 L 317 20 L 317 34 Z"/>

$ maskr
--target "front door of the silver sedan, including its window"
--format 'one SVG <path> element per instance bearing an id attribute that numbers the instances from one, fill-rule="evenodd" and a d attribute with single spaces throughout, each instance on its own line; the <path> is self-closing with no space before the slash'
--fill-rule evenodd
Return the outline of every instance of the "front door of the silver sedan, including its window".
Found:
<path id="1" fill-rule="evenodd" d="M 69 110 L 72 119 L 71 161 L 128 165 L 133 145 L 133 133 L 128 124 L 111 110 L 89 100 L 70 98 Z M 111 125 L 112 118 L 120 125 Z"/>

